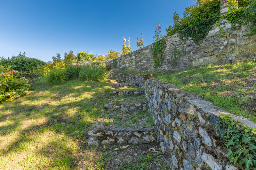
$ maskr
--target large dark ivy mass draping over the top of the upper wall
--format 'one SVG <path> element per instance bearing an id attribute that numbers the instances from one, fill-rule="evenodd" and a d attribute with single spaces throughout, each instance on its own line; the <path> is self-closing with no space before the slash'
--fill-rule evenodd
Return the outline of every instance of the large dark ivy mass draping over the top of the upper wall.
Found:
<path id="1" fill-rule="evenodd" d="M 209 31 L 212 29 L 212 26 L 216 23 L 217 19 L 218 17 L 204 19 L 192 26 L 188 26 L 187 28 L 179 31 L 180 39 L 183 40 L 184 38 L 187 39 L 190 37 L 196 44 L 201 44 L 206 35 L 208 35 Z"/>

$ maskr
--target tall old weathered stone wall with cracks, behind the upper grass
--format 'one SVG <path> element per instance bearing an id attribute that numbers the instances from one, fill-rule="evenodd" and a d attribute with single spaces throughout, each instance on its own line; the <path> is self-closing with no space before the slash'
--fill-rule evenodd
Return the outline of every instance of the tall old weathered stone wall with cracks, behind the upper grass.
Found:
<path id="1" fill-rule="evenodd" d="M 184 43 L 178 34 L 165 38 L 165 60 L 160 68 L 156 68 L 153 64 L 152 44 L 116 58 L 116 68 L 113 65 L 113 60 L 108 64 L 112 69 L 118 71 L 161 72 L 208 64 L 235 63 L 236 60 L 253 60 L 256 56 L 256 35 L 245 37 L 244 35 L 248 34 L 246 27 L 242 27 L 241 30 L 231 30 L 231 24 L 226 20 L 221 20 L 221 26 L 226 26 L 225 31 L 228 31 L 226 37 L 219 37 L 219 28 L 214 25 L 200 45 L 195 44 L 192 40 L 187 40 Z M 172 57 L 175 47 L 182 52 L 177 64 L 173 62 Z"/>

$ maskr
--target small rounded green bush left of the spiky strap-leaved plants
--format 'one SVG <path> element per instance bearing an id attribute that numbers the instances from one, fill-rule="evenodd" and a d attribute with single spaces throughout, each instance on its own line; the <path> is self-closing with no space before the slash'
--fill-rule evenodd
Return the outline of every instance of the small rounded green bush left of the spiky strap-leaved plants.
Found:
<path id="1" fill-rule="evenodd" d="M 50 85 L 58 85 L 68 79 L 67 70 L 55 68 L 47 73 L 46 79 Z"/>

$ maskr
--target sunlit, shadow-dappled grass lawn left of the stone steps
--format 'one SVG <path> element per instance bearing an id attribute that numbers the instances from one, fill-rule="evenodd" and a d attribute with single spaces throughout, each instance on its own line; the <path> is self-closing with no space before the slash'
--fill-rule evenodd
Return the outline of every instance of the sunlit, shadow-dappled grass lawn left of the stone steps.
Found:
<path id="1" fill-rule="evenodd" d="M 49 86 L 43 78 L 28 95 L 1 104 L 0 169 L 73 169 L 90 153 L 84 131 L 113 97 L 108 85 L 73 79 Z"/>

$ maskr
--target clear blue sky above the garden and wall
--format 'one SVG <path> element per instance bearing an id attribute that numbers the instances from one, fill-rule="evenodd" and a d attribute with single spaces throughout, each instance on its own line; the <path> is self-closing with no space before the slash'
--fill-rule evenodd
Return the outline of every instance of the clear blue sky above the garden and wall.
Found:
<path id="1" fill-rule="evenodd" d="M 175 11 L 182 15 L 194 0 L 8 0 L 0 1 L 0 56 L 26 52 L 45 62 L 70 49 L 108 54 L 122 51 L 123 37 L 143 34 L 144 46 L 153 43 L 155 24 L 162 34 L 172 25 Z"/>

